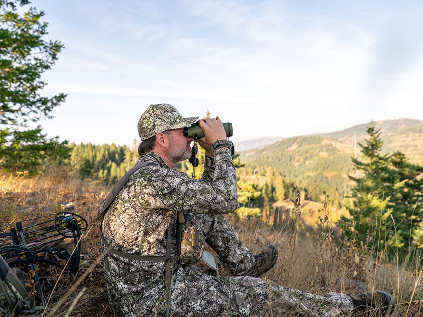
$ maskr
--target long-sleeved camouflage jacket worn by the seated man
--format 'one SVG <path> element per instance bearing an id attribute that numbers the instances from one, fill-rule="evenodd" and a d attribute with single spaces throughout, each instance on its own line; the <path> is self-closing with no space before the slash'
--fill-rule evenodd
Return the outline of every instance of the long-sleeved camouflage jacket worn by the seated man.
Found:
<path id="1" fill-rule="evenodd" d="M 168 230 L 172 229 L 171 255 L 174 256 L 176 210 L 184 212 L 183 230 L 186 233 L 201 231 L 196 228 L 199 224 L 195 221 L 195 213 L 234 211 L 238 201 L 231 154 L 227 148 L 220 148 L 214 156 L 206 156 L 201 180 L 193 180 L 183 172 L 169 169 L 156 153 L 140 156 L 135 164 L 146 161 L 154 166 L 137 170 L 110 205 L 103 221 L 103 235 L 107 242 L 129 254 L 164 256 Z M 202 249 L 203 240 L 200 246 L 181 246 L 181 263 L 197 261 Z M 134 316 L 163 312 L 164 268 L 164 262 L 128 260 L 106 254 L 104 272 L 115 312 Z M 177 262 L 172 263 L 172 271 L 174 282 Z"/>

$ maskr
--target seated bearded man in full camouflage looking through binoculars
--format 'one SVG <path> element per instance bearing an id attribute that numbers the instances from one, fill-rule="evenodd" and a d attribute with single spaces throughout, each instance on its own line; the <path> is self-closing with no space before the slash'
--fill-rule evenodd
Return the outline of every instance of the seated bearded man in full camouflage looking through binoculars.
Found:
<path id="1" fill-rule="evenodd" d="M 183 129 L 197 119 L 182 118 L 169 104 L 148 107 L 138 122 L 143 142 L 133 168 L 140 168 L 109 208 L 104 202 L 100 207 L 107 211 L 104 272 L 118 316 L 255 316 L 270 308 L 276 315 L 350 316 L 359 306 L 367 311 L 393 303 L 385 292 L 318 296 L 258 278 L 275 264 L 277 250 L 269 245 L 253 256 L 221 215 L 238 202 L 231 145 L 218 117 L 198 121 L 206 152 L 201 180 L 174 169 L 191 155 L 193 139 Z M 204 242 L 233 277 L 211 276 L 193 265 L 204 257 Z"/>

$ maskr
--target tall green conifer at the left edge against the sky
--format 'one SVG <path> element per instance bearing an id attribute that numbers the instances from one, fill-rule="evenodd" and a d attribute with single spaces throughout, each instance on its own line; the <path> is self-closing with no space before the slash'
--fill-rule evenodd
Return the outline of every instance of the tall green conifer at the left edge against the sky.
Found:
<path id="1" fill-rule="evenodd" d="M 65 100 L 60 93 L 40 95 L 47 85 L 41 75 L 49 70 L 63 48 L 59 41 L 46 41 L 44 12 L 29 8 L 18 14 L 28 0 L 0 0 L 0 167 L 27 169 L 43 159 L 67 157 L 67 142 L 48 139 L 41 126 L 30 126 Z"/>

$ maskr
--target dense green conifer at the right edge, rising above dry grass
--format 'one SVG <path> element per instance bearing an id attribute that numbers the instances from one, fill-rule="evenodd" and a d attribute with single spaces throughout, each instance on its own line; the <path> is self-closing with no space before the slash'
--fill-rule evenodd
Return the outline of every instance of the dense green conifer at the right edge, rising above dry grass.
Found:
<path id="1" fill-rule="evenodd" d="M 412 239 L 423 246 L 419 204 L 423 198 L 423 167 L 409 163 L 401 152 L 383 155 L 380 131 L 373 122 L 366 132 L 369 138 L 359 144 L 363 159 L 352 158 L 355 169 L 363 175 L 349 176 L 355 186 L 351 217 L 343 217 L 344 232 L 358 234 L 357 239 L 363 242 L 373 243 L 371 237 L 376 237 L 379 249 L 405 249 Z"/>

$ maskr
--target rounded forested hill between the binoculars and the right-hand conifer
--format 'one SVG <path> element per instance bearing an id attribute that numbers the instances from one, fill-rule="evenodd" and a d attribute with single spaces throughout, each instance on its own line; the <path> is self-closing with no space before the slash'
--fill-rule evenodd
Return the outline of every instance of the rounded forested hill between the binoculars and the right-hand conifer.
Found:
<path id="1" fill-rule="evenodd" d="M 347 173 L 353 171 L 353 148 L 335 139 L 319 136 L 293 137 L 267 147 L 242 152 L 240 158 L 259 172 L 267 167 L 306 191 L 306 197 L 320 201 L 326 190 L 337 203 L 346 194 Z"/>

